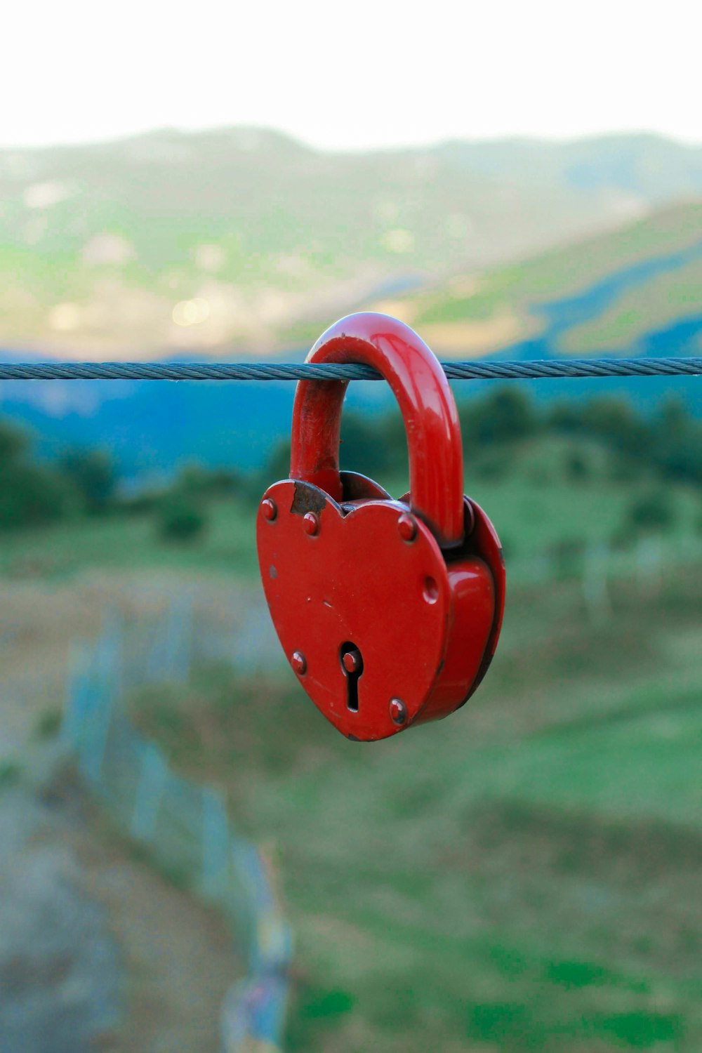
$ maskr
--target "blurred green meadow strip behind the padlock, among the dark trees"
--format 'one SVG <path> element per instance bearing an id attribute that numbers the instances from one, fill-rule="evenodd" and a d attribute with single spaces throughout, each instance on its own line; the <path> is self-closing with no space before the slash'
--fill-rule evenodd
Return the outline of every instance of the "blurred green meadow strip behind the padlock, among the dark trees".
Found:
<path id="1" fill-rule="evenodd" d="M 379 481 L 397 496 L 407 490 L 406 478 Z M 558 565 L 570 561 L 578 570 L 590 545 L 607 545 L 631 567 L 639 535 L 630 524 L 630 510 L 651 494 L 670 511 L 670 523 L 661 536 L 666 558 L 676 560 L 687 547 L 702 544 L 702 500 L 693 488 L 661 488 L 645 475 L 622 476 L 597 442 L 534 439 L 468 460 L 465 486 L 495 522 L 517 581 L 530 580 L 530 572 L 543 560 Z M 255 578 L 255 509 L 250 500 L 215 501 L 203 537 L 190 544 L 160 537 L 152 515 L 83 517 L 6 533 L 0 573 L 65 577 L 86 568 L 176 568 Z"/>

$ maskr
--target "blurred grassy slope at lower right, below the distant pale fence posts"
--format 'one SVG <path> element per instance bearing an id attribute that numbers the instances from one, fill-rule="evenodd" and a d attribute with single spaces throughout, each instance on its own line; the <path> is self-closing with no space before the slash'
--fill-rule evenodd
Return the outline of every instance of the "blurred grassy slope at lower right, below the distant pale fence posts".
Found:
<path id="1" fill-rule="evenodd" d="M 700 1048 L 700 599 L 513 592 L 468 710 L 369 748 L 225 670 L 136 700 L 275 851 L 290 1050 Z"/>

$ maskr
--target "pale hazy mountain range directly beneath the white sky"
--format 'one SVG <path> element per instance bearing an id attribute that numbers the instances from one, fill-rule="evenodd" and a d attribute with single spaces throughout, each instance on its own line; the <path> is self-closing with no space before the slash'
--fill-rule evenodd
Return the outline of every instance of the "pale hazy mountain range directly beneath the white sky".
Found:
<path id="1" fill-rule="evenodd" d="M 229 128 L 4 150 L 0 344 L 268 353 L 701 194 L 702 150 L 643 135 L 328 154 Z"/>

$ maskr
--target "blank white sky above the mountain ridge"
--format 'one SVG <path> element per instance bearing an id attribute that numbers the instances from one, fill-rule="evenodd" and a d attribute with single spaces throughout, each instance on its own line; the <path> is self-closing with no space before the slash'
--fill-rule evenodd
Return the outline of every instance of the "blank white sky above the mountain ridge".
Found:
<path id="1" fill-rule="evenodd" d="M 702 142 L 699 0 L 5 0 L 0 144 L 260 124 L 324 147 Z"/>

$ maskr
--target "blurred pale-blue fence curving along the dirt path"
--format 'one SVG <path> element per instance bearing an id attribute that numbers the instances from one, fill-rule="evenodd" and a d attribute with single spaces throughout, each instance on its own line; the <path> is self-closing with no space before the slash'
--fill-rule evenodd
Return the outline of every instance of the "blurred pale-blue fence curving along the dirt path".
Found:
<path id="1" fill-rule="evenodd" d="M 292 940 L 264 860 L 233 834 L 222 794 L 172 772 L 119 706 L 127 688 L 187 679 L 196 628 L 189 597 L 174 602 L 151 633 L 140 624 L 127 635 L 119 613 L 107 612 L 93 650 L 72 653 L 61 738 L 105 807 L 151 846 L 155 861 L 217 903 L 246 948 L 247 976 L 232 986 L 220 1016 L 225 1053 L 274 1053 L 281 1049 Z M 221 657 L 224 647 L 227 658 L 238 650 L 244 660 L 242 651 L 250 650 L 248 669 L 258 668 L 265 625 L 254 618 L 247 629 L 243 649 L 228 633 L 213 649 L 207 634 L 206 656 Z"/>

